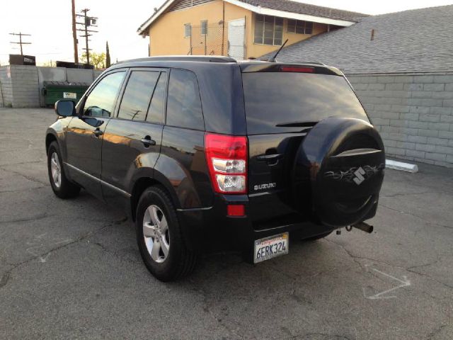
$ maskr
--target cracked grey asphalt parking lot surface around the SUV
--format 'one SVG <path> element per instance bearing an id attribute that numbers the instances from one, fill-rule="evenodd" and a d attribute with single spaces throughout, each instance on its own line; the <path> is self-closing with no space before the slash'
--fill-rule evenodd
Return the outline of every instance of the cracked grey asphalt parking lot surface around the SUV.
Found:
<path id="1" fill-rule="evenodd" d="M 161 283 L 131 222 L 48 185 L 49 109 L 0 109 L 0 339 L 453 339 L 453 169 L 386 170 L 373 234 L 203 256 Z"/>

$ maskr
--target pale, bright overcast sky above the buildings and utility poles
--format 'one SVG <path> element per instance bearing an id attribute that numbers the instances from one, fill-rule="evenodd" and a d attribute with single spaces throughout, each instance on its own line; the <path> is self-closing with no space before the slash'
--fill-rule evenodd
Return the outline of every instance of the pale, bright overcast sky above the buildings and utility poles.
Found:
<path id="1" fill-rule="evenodd" d="M 413 8 L 453 4 L 453 0 L 304 0 L 315 4 L 367 14 L 383 14 Z M 115 5 L 115 3 L 119 5 Z M 93 33 L 90 48 L 105 52 L 108 41 L 112 62 L 147 57 L 149 40 L 137 34 L 137 28 L 151 16 L 164 0 L 76 0 L 76 12 L 90 8 L 88 16 L 98 17 L 98 33 Z M 74 61 L 71 28 L 71 0 L 3 0 L 0 11 L 0 64 L 8 63 L 9 54 L 20 54 L 18 37 L 8 33 L 28 33 L 23 41 L 25 55 L 35 55 L 38 64 L 55 60 Z M 79 57 L 84 38 L 79 38 Z"/>

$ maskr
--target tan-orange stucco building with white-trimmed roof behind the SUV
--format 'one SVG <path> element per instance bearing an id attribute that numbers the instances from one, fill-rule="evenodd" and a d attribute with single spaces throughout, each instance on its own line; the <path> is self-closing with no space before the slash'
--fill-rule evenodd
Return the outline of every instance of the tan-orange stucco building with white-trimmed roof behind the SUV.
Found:
<path id="1" fill-rule="evenodd" d="M 260 57 L 364 14 L 286 0 L 167 0 L 139 27 L 149 55 Z"/>

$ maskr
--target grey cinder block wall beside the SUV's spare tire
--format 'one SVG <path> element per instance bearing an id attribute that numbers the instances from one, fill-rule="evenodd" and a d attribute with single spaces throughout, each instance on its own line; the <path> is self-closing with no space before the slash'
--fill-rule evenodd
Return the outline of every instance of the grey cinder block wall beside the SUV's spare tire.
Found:
<path id="1" fill-rule="evenodd" d="M 349 74 L 389 157 L 453 167 L 453 74 Z"/>

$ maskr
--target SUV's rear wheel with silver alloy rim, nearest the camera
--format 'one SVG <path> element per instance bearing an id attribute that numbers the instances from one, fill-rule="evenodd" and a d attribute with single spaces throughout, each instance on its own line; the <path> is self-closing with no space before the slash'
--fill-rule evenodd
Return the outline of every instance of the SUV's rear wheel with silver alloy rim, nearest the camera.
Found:
<path id="1" fill-rule="evenodd" d="M 168 282 L 187 276 L 197 254 L 185 246 L 176 209 L 161 188 L 147 188 L 137 205 L 135 227 L 140 254 L 149 272 Z"/>

